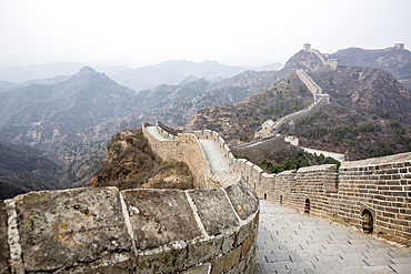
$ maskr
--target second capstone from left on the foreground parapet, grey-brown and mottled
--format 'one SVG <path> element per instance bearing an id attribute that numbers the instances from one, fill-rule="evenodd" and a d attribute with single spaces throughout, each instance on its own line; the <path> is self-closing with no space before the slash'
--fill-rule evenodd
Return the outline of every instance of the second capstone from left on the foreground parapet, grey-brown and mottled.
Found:
<path id="1" fill-rule="evenodd" d="M 121 192 L 139 250 L 201 236 L 186 193 L 180 190 Z"/>

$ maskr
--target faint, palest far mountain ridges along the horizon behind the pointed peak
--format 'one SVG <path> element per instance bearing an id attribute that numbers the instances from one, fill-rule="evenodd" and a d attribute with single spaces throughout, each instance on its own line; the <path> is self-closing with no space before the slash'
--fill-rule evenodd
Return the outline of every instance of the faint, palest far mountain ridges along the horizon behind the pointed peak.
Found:
<path id="1" fill-rule="evenodd" d="M 0 89 L 10 89 L 31 83 L 57 83 L 87 67 L 79 62 L 53 62 L 48 64 L 0 67 Z M 159 84 L 179 84 L 187 78 L 222 79 L 233 77 L 243 71 L 280 70 L 282 64 L 273 63 L 261 67 L 237 67 L 221 64 L 217 61 L 192 62 L 187 60 L 168 60 L 141 68 L 94 67 L 119 84 L 136 91 L 152 89 Z"/>

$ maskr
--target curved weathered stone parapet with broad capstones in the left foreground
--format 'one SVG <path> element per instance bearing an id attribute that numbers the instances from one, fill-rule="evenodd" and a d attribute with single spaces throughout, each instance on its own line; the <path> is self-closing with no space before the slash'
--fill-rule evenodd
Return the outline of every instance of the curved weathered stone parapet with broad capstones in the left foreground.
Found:
<path id="1" fill-rule="evenodd" d="M 253 273 L 258 216 L 258 197 L 235 174 L 211 190 L 32 192 L 1 203 L 0 270 Z"/>

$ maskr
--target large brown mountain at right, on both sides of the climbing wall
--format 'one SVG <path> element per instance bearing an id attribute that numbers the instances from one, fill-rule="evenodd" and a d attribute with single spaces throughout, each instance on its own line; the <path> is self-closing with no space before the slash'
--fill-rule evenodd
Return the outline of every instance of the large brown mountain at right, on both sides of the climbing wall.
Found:
<path id="1" fill-rule="evenodd" d="M 211 129 L 225 140 L 253 138 L 268 119 L 302 110 L 312 95 L 293 71 L 305 68 L 331 97 L 331 103 L 289 129 L 302 146 L 344 153 L 350 160 L 411 151 L 409 91 L 389 72 L 375 67 L 321 65 L 312 52 L 299 52 L 279 72 L 281 80 L 232 105 L 203 108 L 186 130 Z"/>

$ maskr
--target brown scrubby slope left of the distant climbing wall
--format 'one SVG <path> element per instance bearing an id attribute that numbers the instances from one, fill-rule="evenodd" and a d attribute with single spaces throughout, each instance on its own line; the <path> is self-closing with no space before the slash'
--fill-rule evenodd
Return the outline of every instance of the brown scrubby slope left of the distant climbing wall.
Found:
<path id="1" fill-rule="evenodd" d="M 210 105 L 197 111 L 184 130 L 214 130 L 227 141 L 240 136 L 252 139 L 265 120 L 278 120 L 307 108 L 312 101 L 312 94 L 303 83 L 295 74 L 290 74 L 241 102 Z"/>

